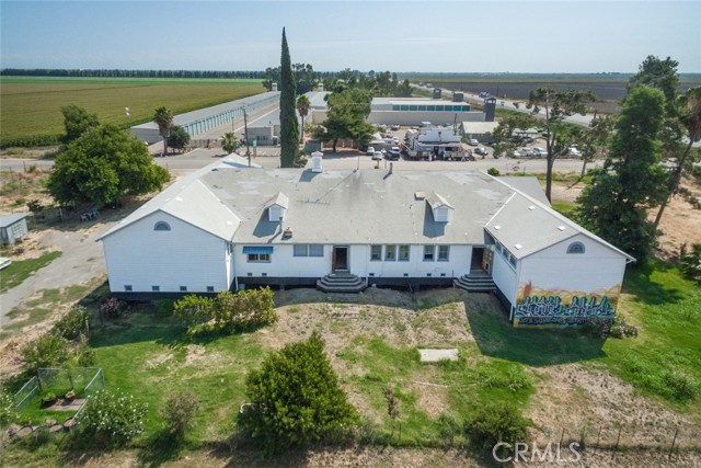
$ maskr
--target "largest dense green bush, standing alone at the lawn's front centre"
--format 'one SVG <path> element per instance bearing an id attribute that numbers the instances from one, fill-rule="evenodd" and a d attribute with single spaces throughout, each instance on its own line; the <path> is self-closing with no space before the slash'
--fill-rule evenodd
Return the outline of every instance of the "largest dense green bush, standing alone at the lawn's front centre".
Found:
<path id="1" fill-rule="evenodd" d="M 317 332 L 268 355 L 245 384 L 239 425 L 267 453 L 337 436 L 356 420 Z"/>

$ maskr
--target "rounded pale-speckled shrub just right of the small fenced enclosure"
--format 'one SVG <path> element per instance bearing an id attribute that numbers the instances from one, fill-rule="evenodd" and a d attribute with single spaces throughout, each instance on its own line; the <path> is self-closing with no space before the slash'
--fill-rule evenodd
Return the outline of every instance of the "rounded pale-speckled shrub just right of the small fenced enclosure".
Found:
<path id="1" fill-rule="evenodd" d="M 82 435 L 100 447 L 120 447 L 143 431 L 147 403 L 133 396 L 100 390 L 88 399 L 80 416 Z"/>

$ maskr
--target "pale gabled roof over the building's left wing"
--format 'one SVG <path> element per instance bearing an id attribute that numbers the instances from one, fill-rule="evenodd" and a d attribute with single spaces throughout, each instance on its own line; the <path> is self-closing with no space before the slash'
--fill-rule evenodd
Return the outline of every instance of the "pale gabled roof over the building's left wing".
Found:
<path id="1" fill-rule="evenodd" d="M 241 220 L 199 180 L 175 182 L 97 238 L 102 240 L 156 212 L 166 213 L 223 240 L 231 240 Z"/>

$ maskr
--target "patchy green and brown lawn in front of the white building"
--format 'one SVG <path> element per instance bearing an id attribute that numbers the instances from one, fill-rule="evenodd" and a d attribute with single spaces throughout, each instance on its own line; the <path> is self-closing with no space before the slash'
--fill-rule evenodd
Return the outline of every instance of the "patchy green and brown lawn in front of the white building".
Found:
<path id="1" fill-rule="evenodd" d="M 193 391 L 200 401 L 187 447 L 220 443 L 233 434 L 239 406 L 246 400 L 248 372 L 260 365 L 272 346 L 297 340 L 290 331 L 299 336 L 314 329 L 327 341 L 344 343 L 332 353 L 334 367 L 371 429 L 370 440 L 380 445 L 440 446 L 441 415 L 462 421 L 487 401 L 527 407 L 541 383 L 539 369 L 566 363 L 608 370 L 643 395 L 701 421 L 701 287 L 683 279 L 675 267 L 654 262 L 628 271 L 620 313 L 640 328 L 640 336 L 634 339 L 601 339 L 577 329 L 515 329 L 506 313 L 494 307 L 493 297 L 458 296 L 446 295 L 451 301 L 447 305 L 420 296 L 415 310 L 401 322 L 391 308 L 378 306 L 380 313 L 372 316 L 361 312 L 360 322 L 379 321 L 394 341 L 383 333 L 366 332 L 365 326 L 354 328 L 356 324 L 331 319 L 325 312 L 307 313 L 304 309 L 311 305 L 290 306 L 286 313 L 301 319 L 288 320 L 287 329 L 276 324 L 252 333 L 193 341 L 172 318 L 159 316 L 154 307 L 139 306 L 105 327 L 93 323 L 91 345 L 95 365 L 104 369 L 106 386 L 149 403 L 146 431 L 136 445 L 151 454 L 162 434 L 159 411 L 171 392 Z M 446 320 L 456 317 L 450 313 L 462 310 L 455 300 L 466 305 L 464 328 L 474 341 L 448 338 L 444 342 L 440 338 L 448 336 L 443 329 Z M 310 319 L 302 321 L 304 317 Z M 427 340 L 428 345 L 457 347 L 460 359 L 422 364 L 416 345 L 402 345 L 397 340 L 403 333 L 427 336 L 425 330 L 436 334 L 420 343 Z M 384 388 L 392 388 L 401 402 L 394 431 L 387 416 Z M 438 409 L 428 411 L 426 398 L 440 403 Z M 156 450 L 153 456 L 164 457 L 158 458 L 162 461 L 170 455 Z"/>

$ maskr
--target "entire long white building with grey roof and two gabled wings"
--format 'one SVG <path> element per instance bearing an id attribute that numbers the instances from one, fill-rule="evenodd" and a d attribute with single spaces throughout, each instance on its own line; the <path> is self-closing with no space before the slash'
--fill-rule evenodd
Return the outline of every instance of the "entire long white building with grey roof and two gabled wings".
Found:
<path id="1" fill-rule="evenodd" d="M 495 290 L 515 324 L 611 318 L 633 259 L 550 208 L 536 179 L 242 168 L 176 182 L 101 236 L 127 298 L 257 285 Z"/>

